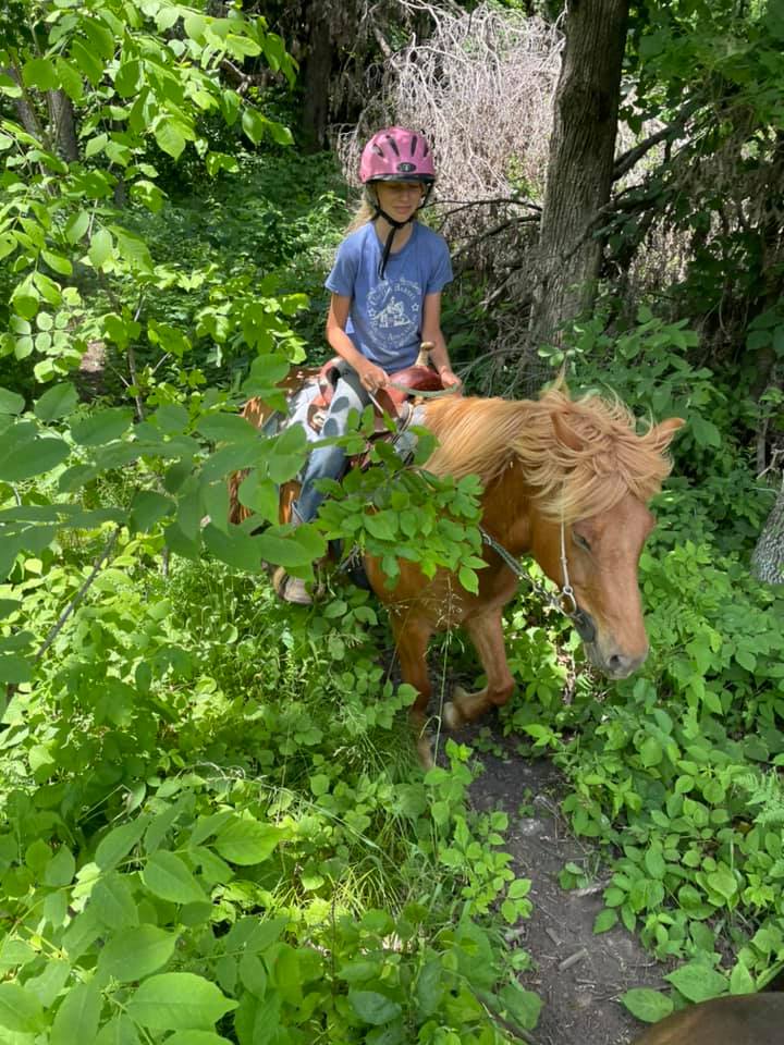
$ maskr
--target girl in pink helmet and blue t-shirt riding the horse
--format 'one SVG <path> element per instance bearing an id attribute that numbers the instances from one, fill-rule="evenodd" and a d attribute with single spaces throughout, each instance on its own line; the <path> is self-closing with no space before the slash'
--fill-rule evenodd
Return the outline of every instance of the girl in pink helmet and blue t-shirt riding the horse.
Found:
<path id="1" fill-rule="evenodd" d="M 414 364 L 422 341 L 444 388 L 460 385 L 441 332 L 441 291 L 452 280 L 443 237 L 416 216 L 436 181 L 432 153 L 414 131 L 387 127 L 365 146 L 359 164 L 365 200 L 338 248 L 326 286 L 332 293 L 327 341 L 343 359 L 322 435 L 344 435 L 351 410 L 362 411 L 368 393 L 384 389 L 389 374 Z M 319 479 L 339 479 L 341 446 L 314 451 L 303 476 L 297 521 L 316 517 L 323 494 Z M 287 602 L 310 603 L 305 582 L 285 577 L 279 588 Z"/>

